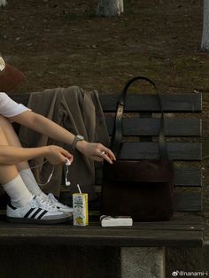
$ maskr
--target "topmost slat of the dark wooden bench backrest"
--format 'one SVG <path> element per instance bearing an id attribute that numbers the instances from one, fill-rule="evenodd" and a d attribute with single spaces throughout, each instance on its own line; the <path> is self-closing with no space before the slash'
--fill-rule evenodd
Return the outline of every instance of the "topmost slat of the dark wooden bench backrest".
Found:
<path id="1" fill-rule="evenodd" d="M 198 93 L 162 94 L 164 112 L 201 112 L 202 97 Z M 120 94 L 99 94 L 104 112 L 115 112 Z M 126 112 L 158 112 L 157 95 L 129 94 Z"/>

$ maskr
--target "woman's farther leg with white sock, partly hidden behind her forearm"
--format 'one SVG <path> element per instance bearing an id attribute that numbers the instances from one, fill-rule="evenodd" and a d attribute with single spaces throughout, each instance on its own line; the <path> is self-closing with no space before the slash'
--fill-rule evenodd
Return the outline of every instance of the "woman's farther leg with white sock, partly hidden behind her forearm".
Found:
<path id="1" fill-rule="evenodd" d="M 15 133 L 11 122 L 3 116 L 0 116 L 0 127 L 2 127 L 2 129 L 4 130 L 4 135 L 9 145 L 22 148 L 21 143 L 19 142 L 19 137 Z M 21 178 L 27 186 L 27 189 L 35 196 L 42 194 L 43 191 L 40 189 L 37 182 L 35 181 L 34 174 L 31 172 L 28 162 L 23 161 L 16 166 Z"/>

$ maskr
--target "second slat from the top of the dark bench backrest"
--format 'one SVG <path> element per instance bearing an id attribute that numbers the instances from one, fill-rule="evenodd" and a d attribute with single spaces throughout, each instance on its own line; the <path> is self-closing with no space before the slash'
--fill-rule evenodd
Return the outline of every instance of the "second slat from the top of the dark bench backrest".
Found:
<path id="1" fill-rule="evenodd" d="M 109 135 L 112 135 L 114 119 L 106 118 L 106 125 Z M 123 135 L 159 135 L 159 119 L 140 119 L 140 118 L 124 118 L 123 119 Z M 200 136 L 201 120 L 197 118 L 190 119 L 165 119 L 165 135 L 166 136 Z"/>

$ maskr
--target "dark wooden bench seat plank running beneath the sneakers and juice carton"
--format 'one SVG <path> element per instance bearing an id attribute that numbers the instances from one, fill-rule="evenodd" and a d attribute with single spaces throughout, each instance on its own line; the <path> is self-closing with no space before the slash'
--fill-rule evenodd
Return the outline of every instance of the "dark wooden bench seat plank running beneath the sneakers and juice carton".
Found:
<path id="1" fill-rule="evenodd" d="M 137 225 L 138 223 L 135 223 Z M 166 224 L 166 223 L 165 223 Z M 10 244 L 65 244 L 77 246 L 202 246 L 203 232 L 193 230 L 101 228 L 90 225 L 87 228 L 63 226 L 49 228 L 0 228 L 0 245 Z"/>

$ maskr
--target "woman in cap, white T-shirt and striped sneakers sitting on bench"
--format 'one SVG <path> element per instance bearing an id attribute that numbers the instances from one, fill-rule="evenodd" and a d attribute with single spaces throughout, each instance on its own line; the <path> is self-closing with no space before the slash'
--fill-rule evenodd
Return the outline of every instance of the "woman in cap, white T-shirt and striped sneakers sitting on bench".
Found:
<path id="1" fill-rule="evenodd" d="M 55 122 L 30 111 L 23 104 L 6 95 L 23 79 L 23 73 L 5 64 L 0 58 L 0 183 L 11 198 L 7 205 L 7 220 L 24 223 L 59 223 L 72 217 L 73 209 L 63 205 L 52 195 L 46 195 L 35 181 L 27 160 L 46 158 L 50 164 L 73 162 L 69 151 L 56 145 L 22 148 L 11 122 L 49 135 L 50 138 L 74 146 L 85 156 L 97 161 L 115 159 L 112 151 L 101 143 L 89 143 L 81 135 L 73 135 Z M 37 124 L 38 123 L 38 124 Z"/>

